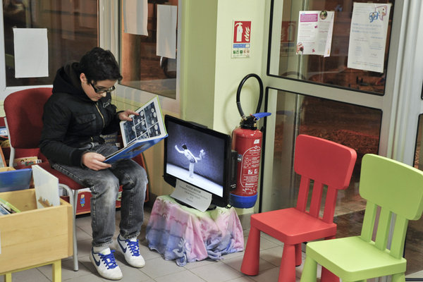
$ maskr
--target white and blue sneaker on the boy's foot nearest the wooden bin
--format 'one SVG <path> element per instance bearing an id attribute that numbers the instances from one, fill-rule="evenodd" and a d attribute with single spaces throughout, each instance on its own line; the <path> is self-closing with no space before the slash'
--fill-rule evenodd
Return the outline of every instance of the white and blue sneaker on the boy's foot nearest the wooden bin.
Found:
<path id="1" fill-rule="evenodd" d="M 120 280 L 123 277 L 122 271 L 116 264 L 113 253 L 114 250 L 111 251 L 109 247 L 102 252 L 94 252 L 91 248 L 90 260 L 101 276 L 110 280 Z"/>

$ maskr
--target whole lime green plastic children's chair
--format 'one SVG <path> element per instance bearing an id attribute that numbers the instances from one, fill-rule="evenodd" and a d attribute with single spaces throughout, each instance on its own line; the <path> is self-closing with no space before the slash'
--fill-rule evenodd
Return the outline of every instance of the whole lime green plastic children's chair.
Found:
<path id="1" fill-rule="evenodd" d="M 317 280 L 317 264 L 343 282 L 365 282 L 390 275 L 392 282 L 405 281 L 405 233 L 408 221 L 422 216 L 423 171 L 386 157 L 366 154 L 362 159 L 360 195 L 367 200 L 361 235 L 308 243 L 301 282 Z M 388 240 L 391 221 L 395 224 L 392 238 Z M 388 241 L 391 241 L 390 247 Z M 321 282 L 334 278 L 322 277 Z"/>

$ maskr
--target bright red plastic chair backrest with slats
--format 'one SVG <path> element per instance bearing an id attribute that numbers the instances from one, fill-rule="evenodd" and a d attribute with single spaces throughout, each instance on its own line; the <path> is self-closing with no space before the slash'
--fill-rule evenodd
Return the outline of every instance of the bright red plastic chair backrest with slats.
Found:
<path id="1" fill-rule="evenodd" d="M 354 149 L 309 135 L 298 135 L 295 142 L 294 169 L 301 176 L 296 208 L 306 212 L 313 180 L 309 214 L 319 217 L 324 185 L 327 185 L 323 220 L 333 222 L 338 190 L 348 188 L 357 159 Z"/>

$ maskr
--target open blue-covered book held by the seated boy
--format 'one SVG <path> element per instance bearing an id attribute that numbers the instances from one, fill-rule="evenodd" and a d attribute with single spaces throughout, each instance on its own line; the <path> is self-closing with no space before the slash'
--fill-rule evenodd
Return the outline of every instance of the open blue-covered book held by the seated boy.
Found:
<path id="1" fill-rule="evenodd" d="M 123 148 L 106 157 L 107 164 L 119 159 L 132 159 L 167 137 L 158 97 L 154 97 L 131 116 L 132 121 L 121 121 Z"/>

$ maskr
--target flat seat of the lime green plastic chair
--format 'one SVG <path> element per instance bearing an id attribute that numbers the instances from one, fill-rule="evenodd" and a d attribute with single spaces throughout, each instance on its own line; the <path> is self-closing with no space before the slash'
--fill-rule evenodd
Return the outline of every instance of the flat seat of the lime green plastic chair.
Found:
<path id="1" fill-rule="evenodd" d="M 406 259 L 396 259 L 387 251 L 369 247 L 359 236 L 310 242 L 307 257 L 324 265 L 345 281 L 387 276 L 405 272 Z"/>

